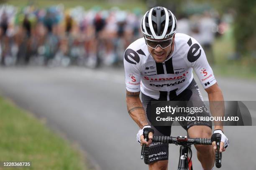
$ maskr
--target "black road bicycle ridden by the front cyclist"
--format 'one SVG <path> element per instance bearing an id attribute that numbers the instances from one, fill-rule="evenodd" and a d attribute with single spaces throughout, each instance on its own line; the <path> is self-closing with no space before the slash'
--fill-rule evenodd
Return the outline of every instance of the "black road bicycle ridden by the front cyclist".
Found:
<path id="1" fill-rule="evenodd" d="M 144 130 L 144 138 L 148 140 L 148 132 Z M 216 168 L 221 167 L 222 153 L 220 153 L 220 138 L 221 135 L 216 136 L 217 151 L 215 152 L 215 166 Z M 179 149 L 179 164 L 178 170 L 193 170 L 192 167 L 192 150 L 191 145 L 212 145 L 212 141 L 207 138 L 187 138 L 187 136 L 182 137 L 172 137 L 172 136 L 153 136 L 152 142 L 161 142 L 180 145 Z M 144 163 L 149 164 L 149 148 L 143 144 L 141 148 L 141 159 L 144 158 Z"/>

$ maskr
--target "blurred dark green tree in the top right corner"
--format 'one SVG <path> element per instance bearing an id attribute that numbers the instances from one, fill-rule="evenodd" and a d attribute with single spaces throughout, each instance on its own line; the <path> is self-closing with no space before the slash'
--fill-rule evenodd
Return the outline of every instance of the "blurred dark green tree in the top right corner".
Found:
<path id="1" fill-rule="evenodd" d="M 202 0 L 197 0 L 202 2 Z M 256 0 L 215 0 L 210 2 L 221 13 L 233 8 L 235 47 L 238 55 L 256 52 Z"/>

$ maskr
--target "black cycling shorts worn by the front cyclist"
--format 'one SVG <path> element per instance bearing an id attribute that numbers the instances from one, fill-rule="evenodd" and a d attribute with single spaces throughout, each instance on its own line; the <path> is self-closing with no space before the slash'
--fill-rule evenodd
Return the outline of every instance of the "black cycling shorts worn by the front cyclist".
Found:
<path id="1" fill-rule="evenodd" d="M 155 133 L 156 136 L 170 136 L 171 135 L 171 127 L 172 126 L 153 126 L 151 124 L 151 101 L 159 101 L 147 95 L 141 94 L 142 103 L 144 110 L 146 112 L 146 118 L 148 121 L 148 125 L 150 125 Z M 197 86 L 197 83 L 193 79 L 189 86 L 182 91 L 179 95 L 172 97 L 172 101 L 188 101 L 192 102 L 194 107 L 202 107 L 204 102 L 202 101 L 202 97 Z M 209 116 L 210 113 L 208 111 L 203 111 L 200 113 L 200 116 Z M 188 130 L 190 127 L 195 125 L 205 125 L 212 128 L 212 122 L 208 121 L 189 121 L 189 122 L 179 122 L 182 125 L 182 128 Z M 149 145 L 149 162 L 154 163 L 159 160 L 168 160 L 168 149 L 169 145 L 167 143 L 156 143 L 153 142 Z"/>

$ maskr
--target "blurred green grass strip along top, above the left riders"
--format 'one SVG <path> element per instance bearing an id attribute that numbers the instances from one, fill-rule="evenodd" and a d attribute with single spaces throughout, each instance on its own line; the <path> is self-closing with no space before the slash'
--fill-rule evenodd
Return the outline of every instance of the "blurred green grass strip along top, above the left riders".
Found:
<path id="1" fill-rule="evenodd" d="M 81 5 L 85 9 L 90 9 L 91 7 L 95 6 L 99 6 L 102 9 L 110 9 L 111 7 L 117 6 L 123 10 L 133 10 L 134 8 L 140 8 L 143 11 L 146 10 L 146 5 L 143 2 L 136 0 L 116 2 L 106 0 L 5 0 L 5 2 L 10 5 L 15 5 L 17 7 L 24 7 L 28 5 L 29 2 L 33 2 L 38 7 L 49 7 L 51 5 L 63 4 L 64 7 L 67 8 Z"/>

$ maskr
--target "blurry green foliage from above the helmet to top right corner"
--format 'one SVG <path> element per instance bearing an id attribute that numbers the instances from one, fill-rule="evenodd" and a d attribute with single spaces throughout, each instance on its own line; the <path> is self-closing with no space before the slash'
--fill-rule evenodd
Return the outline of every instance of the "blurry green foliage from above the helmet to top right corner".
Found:
<path id="1" fill-rule="evenodd" d="M 256 0 L 143 0 L 148 7 L 164 6 L 176 15 L 202 12 L 212 6 L 221 14 L 230 9 L 235 11 L 233 39 L 239 54 L 256 54 Z M 186 8 L 187 5 L 192 8 Z M 255 56 L 256 57 L 256 56 Z"/>

